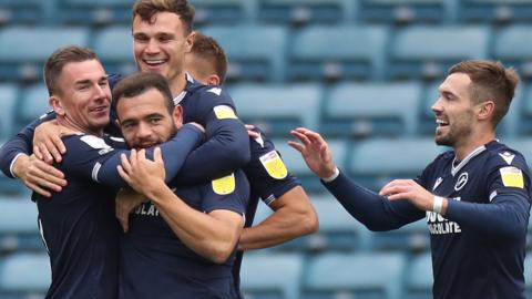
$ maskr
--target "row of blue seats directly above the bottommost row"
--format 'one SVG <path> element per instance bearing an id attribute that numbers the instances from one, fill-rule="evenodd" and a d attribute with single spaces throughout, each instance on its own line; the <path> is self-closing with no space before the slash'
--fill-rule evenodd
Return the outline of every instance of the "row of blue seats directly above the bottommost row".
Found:
<path id="1" fill-rule="evenodd" d="M 405 252 L 415 255 L 430 250 L 424 219 L 387 233 L 371 233 L 355 220 L 331 195 L 310 194 L 319 216 L 319 231 L 277 246 L 270 251 L 300 252 Z M 23 196 L 0 196 L 0 255 L 13 251 L 41 251 L 43 245 L 37 229 L 37 207 Z M 272 210 L 260 204 L 255 223 Z M 529 225 L 526 248 L 532 249 L 532 223 Z M 268 249 L 269 250 L 269 249 Z"/>

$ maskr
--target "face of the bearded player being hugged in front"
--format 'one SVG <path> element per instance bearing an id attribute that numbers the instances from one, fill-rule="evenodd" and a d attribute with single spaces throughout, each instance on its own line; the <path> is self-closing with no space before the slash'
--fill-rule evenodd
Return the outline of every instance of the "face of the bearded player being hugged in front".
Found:
<path id="1" fill-rule="evenodd" d="M 121 99 L 116 104 L 122 134 L 131 148 L 147 148 L 170 140 L 182 126 L 181 106 L 173 115 L 156 89 Z"/>

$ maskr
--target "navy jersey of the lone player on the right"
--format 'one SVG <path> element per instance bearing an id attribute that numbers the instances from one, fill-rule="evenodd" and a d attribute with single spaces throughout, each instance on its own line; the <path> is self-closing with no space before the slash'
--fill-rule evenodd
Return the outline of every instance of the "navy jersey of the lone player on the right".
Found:
<path id="1" fill-rule="evenodd" d="M 524 298 L 523 262 L 526 230 L 515 237 L 498 237 L 490 226 L 504 223 L 452 221 L 460 202 L 481 204 L 478 210 L 513 200 L 515 216 L 530 213 L 530 173 L 523 156 L 499 142 L 473 151 L 461 162 L 447 152 L 434 159 L 418 181 L 426 189 L 449 199 L 446 217 L 428 212 L 434 275 L 434 298 Z M 504 197 L 504 195 L 510 195 Z M 518 196 L 514 196 L 518 195 Z M 519 196 L 522 195 L 522 196 Z M 499 200 L 499 202 L 498 202 Z M 457 206 L 457 207 L 454 207 Z M 487 231 L 477 229 L 484 226 Z M 524 226 L 525 227 L 525 226 Z"/>

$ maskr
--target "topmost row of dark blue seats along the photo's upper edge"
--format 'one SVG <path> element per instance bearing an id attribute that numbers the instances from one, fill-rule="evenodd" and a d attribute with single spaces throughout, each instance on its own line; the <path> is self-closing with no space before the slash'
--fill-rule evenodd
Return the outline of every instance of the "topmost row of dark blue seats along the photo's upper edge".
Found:
<path id="1" fill-rule="evenodd" d="M 129 23 L 134 0 L 2 0 L 0 23 Z M 531 0 L 191 0 L 200 23 L 446 23 L 532 20 Z"/>

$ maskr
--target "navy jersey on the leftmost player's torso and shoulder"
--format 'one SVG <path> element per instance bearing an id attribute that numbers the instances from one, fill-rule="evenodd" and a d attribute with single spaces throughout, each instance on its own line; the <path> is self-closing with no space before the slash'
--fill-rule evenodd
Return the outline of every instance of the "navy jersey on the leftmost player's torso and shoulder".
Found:
<path id="1" fill-rule="evenodd" d="M 52 268 L 47 298 L 116 298 L 115 192 L 93 179 L 94 165 L 111 156 L 108 144 L 114 143 L 91 135 L 72 135 L 63 142 L 66 154 L 54 166 L 69 184 L 52 198 L 33 194 Z"/>

